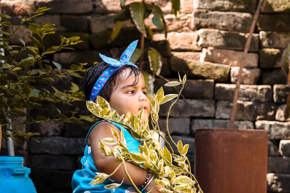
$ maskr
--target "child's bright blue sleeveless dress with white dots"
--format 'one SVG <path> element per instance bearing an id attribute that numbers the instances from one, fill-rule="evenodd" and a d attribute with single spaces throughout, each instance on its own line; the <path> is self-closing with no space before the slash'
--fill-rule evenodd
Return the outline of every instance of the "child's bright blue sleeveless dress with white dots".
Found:
<path id="1" fill-rule="evenodd" d="M 108 121 L 108 120 L 103 120 L 103 121 Z M 102 122 L 102 121 L 100 121 Z M 81 170 L 75 171 L 73 174 L 73 179 L 72 179 L 72 188 L 73 188 L 73 193 L 128 193 L 128 192 L 137 192 L 135 188 L 132 185 L 127 185 L 123 183 L 121 186 L 115 189 L 106 189 L 104 188 L 105 185 L 111 184 L 114 182 L 114 180 L 111 179 L 106 179 L 103 183 L 99 185 L 89 185 L 89 183 L 94 179 L 96 176 L 95 172 L 99 172 L 95 165 L 94 165 L 94 160 L 91 152 L 91 147 L 88 146 L 87 141 L 88 141 L 88 136 L 90 135 L 91 130 L 100 122 L 97 122 L 94 124 L 86 137 L 85 143 L 86 143 L 86 148 L 84 151 L 84 156 L 81 158 L 81 164 L 82 168 Z M 108 121 L 112 124 L 114 124 L 117 128 L 123 131 L 124 137 L 126 139 L 127 147 L 129 152 L 133 153 L 139 153 L 138 145 L 141 145 L 140 141 L 137 139 L 133 138 L 130 133 L 122 127 L 120 124 Z M 98 160 L 95 160 L 98 161 Z M 118 182 L 116 182 L 118 183 Z"/>

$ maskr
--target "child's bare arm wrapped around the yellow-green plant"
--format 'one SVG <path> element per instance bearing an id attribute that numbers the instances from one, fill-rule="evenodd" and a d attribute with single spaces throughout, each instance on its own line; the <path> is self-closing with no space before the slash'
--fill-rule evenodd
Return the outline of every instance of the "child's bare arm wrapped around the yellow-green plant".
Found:
<path id="1" fill-rule="evenodd" d="M 103 172 L 106 174 L 111 174 L 117 168 L 117 166 L 119 166 L 119 164 L 122 163 L 122 161 L 116 160 L 114 156 L 105 156 L 101 152 L 101 150 L 98 149 L 99 140 L 102 140 L 106 137 L 114 138 L 113 134 L 111 133 L 110 128 L 113 128 L 120 135 L 120 130 L 115 125 L 109 122 L 102 122 L 102 123 L 97 124 L 95 128 L 93 128 L 88 138 L 88 145 L 91 146 L 95 166 L 100 172 Z M 110 147 L 110 145 L 108 144 L 106 145 Z M 114 145 L 111 145 L 111 147 L 113 146 Z M 140 166 L 134 163 L 130 163 L 130 162 L 126 162 L 126 167 L 135 185 L 137 187 L 140 187 L 144 183 L 144 180 L 147 176 L 147 170 L 144 170 Z M 121 166 L 119 170 L 117 170 L 117 172 L 110 177 L 110 179 L 120 182 L 122 181 L 123 176 L 124 176 L 124 167 Z M 150 174 L 150 178 L 151 176 L 152 174 Z M 125 177 L 124 183 L 131 184 L 128 177 Z M 153 180 L 148 185 L 146 190 L 150 190 L 154 186 L 154 184 L 155 183 Z M 160 188 L 163 188 L 163 186 L 158 185 L 152 192 L 153 193 L 159 192 L 158 190 Z"/>

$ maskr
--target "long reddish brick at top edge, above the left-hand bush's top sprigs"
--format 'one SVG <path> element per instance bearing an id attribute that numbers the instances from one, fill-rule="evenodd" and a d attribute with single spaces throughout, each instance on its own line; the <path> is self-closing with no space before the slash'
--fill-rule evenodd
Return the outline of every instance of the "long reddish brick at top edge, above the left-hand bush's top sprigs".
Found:
<path id="1" fill-rule="evenodd" d="M 93 1 L 91 0 L 39 0 L 37 7 L 51 8 L 47 11 L 50 14 L 84 14 L 93 11 Z"/>

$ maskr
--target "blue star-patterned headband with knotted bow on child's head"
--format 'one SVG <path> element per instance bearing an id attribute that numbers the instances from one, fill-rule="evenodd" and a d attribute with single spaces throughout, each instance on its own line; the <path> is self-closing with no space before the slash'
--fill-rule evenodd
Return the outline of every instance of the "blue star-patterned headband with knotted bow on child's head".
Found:
<path id="1" fill-rule="evenodd" d="M 95 83 L 91 94 L 90 94 L 90 101 L 95 102 L 97 95 L 100 93 L 100 91 L 102 90 L 102 88 L 104 87 L 104 85 L 106 84 L 106 82 L 108 81 L 108 79 L 112 76 L 112 74 L 118 70 L 119 68 L 121 68 L 122 66 L 125 65 L 132 65 L 136 68 L 138 68 L 135 64 L 129 62 L 136 46 L 137 46 L 138 40 L 133 41 L 127 48 L 126 50 L 123 52 L 123 54 L 120 57 L 120 60 L 115 60 L 113 58 L 109 58 L 107 56 L 104 56 L 102 54 L 99 54 L 102 58 L 102 60 L 104 60 L 105 63 L 107 63 L 108 65 L 110 65 L 103 73 L 102 75 L 98 78 L 97 82 Z"/>

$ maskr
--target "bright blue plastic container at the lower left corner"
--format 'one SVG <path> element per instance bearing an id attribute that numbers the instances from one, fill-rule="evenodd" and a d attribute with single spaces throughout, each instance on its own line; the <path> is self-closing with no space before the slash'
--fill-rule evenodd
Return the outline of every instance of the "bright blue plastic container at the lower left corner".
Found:
<path id="1" fill-rule="evenodd" d="M 23 157 L 0 156 L 0 193 L 36 193 Z"/>

